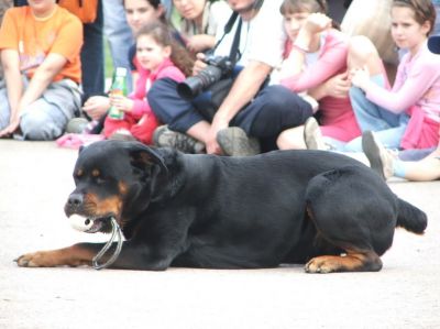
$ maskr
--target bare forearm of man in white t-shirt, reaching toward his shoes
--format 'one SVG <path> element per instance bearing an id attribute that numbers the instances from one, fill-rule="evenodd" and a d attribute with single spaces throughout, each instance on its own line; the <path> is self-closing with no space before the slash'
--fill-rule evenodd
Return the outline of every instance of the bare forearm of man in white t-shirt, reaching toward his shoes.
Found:
<path id="1" fill-rule="evenodd" d="M 255 97 L 271 70 L 271 66 L 261 62 L 248 64 L 237 77 L 215 120 L 231 121 Z"/>

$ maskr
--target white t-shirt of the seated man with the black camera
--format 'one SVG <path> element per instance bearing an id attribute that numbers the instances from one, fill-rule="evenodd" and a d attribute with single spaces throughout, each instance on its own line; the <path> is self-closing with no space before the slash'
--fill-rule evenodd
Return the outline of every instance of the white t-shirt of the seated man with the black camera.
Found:
<path id="1" fill-rule="evenodd" d="M 264 1 L 256 17 L 251 21 L 243 21 L 239 47 L 242 55 L 237 63 L 238 65 L 245 66 L 249 61 L 258 61 L 275 67 L 280 63 L 286 41 L 283 15 L 279 13 L 282 1 Z M 231 32 L 224 36 L 217 47 L 215 55 L 229 56 L 239 20 L 240 17 L 237 19 Z M 223 29 L 219 29 L 216 40 L 220 40 L 223 33 Z"/>

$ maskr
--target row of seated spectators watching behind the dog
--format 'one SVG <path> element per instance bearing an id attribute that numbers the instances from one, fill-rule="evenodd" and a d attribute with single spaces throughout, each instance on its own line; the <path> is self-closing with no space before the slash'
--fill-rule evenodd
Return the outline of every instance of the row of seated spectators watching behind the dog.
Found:
<path id="1" fill-rule="evenodd" d="M 124 0 L 134 43 L 117 51 L 129 58 L 132 91 L 87 99 L 84 26 L 56 2 L 3 17 L 0 138 L 96 133 L 231 156 L 318 149 L 385 179 L 440 178 L 430 0 L 345 1 L 341 25 L 326 0 Z M 363 21 L 353 19 L 360 10 Z M 372 33 L 373 21 L 385 30 Z"/>

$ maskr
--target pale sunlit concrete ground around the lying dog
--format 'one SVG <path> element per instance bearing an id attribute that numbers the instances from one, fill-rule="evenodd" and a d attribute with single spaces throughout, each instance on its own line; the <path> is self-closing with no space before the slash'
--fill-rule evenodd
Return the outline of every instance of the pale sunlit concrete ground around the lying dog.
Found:
<path id="1" fill-rule="evenodd" d="M 389 183 L 429 224 L 397 230 L 378 273 L 18 267 L 25 252 L 107 241 L 65 219 L 76 155 L 0 140 L 0 328 L 440 328 L 439 182 Z"/>

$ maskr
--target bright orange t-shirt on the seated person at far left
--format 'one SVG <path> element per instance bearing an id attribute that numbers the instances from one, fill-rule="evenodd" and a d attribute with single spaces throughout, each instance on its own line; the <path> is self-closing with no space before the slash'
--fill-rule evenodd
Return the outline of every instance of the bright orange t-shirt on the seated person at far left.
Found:
<path id="1" fill-rule="evenodd" d="M 0 50 L 16 50 L 20 70 L 32 77 L 50 53 L 67 59 L 54 80 L 81 80 L 79 53 L 82 46 L 82 23 L 66 9 L 56 7 L 52 17 L 38 20 L 29 6 L 11 8 L 4 13 L 0 29 Z"/>

